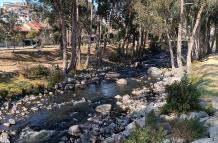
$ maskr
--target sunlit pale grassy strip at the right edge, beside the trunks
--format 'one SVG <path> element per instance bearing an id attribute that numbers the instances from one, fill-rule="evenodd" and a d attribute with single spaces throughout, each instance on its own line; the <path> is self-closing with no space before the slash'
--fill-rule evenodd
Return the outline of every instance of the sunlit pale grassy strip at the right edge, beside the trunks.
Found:
<path id="1" fill-rule="evenodd" d="M 202 96 L 218 96 L 218 55 L 194 63 L 192 77 L 197 78 Z"/>

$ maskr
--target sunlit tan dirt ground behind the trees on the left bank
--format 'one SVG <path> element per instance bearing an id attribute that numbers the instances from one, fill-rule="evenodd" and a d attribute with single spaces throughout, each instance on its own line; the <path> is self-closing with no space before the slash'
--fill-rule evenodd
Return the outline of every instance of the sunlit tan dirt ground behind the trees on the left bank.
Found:
<path id="1" fill-rule="evenodd" d="M 93 48 L 91 54 L 95 53 Z M 54 46 L 51 48 L 19 48 L 15 52 L 12 49 L 0 50 L 0 72 L 15 72 L 19 71 L 22 67 L 33 66 L 33 65 L 59 65 L 62 67 L 62 60 L 59 58 L 59 48 Z M 85 63 L 87 46 L 81 47 L 82 63 Z M 106 56 L 114 52 L 114 46 L 108 46 L 106 49 Z M 70 49 L 69 49 L 70 56 Z M 104 56 L 105 57 L 105 56 Z M 93 58 L 92 58 L 93 59 Z"/>

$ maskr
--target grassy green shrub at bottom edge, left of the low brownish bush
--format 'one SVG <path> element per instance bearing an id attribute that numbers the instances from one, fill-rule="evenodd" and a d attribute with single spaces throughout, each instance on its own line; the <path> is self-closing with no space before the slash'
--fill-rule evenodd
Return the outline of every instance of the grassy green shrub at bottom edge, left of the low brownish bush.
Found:
<path id="1" fill-rule="evenodd" d="M 146 128 L 137 128 L 125 143 L 162 143 L 164 130 L 157 126 L 158 120 L 155 115 L 148 115 L 145 122 Z"/>

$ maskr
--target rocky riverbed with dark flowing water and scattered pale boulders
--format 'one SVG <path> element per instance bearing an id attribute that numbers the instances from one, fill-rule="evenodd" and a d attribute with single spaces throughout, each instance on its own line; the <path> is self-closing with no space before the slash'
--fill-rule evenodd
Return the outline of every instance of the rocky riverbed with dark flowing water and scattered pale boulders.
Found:
<path id="1" fill-rule="evenodd" d="M 154 56 L 151 62 L 133 64 L 119 72 L 103 68 L 81 73 L 57 84 L 54 91 L 5 102 L 1 106 L 0 142 L 86 143 L 125 139 L 136 124 L 144 126 L 149 112 L 158 111 L 165 103 L 165 85 L 180 80 L 169 69 L 151 67 L 169 63 L 165 57 Z M 137 78 L 130 78 L 135 75 Z M 66 90 L 77 92 L 70 91 L 70 96 L 66 96 Z M 79 96 L 81 92 L 87 96 Z M 90 92 L 94 98 L 89 98 Z"/>

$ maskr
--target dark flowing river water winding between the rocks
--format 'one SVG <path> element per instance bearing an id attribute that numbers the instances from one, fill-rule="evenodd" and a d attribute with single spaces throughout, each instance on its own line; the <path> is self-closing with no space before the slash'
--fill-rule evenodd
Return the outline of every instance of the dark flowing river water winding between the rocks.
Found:
<path id="1" fill-rule="evenodd" d="M 153 64 L 149 65 L 149 63 L 155 62 L 160 65 L 165 62 L 161 58 L 155 60 L 145 63 L 147 68 L 153 66 Z M 67 91 L 63 95 L 49 97 L 48 100 L 41 104 L 56 103 L 58 105 L 81 100 L 85 100 L 85 102 L 79 102 L 78 104 L 72 102 L 49 111 L 39 110 L 31 113 L 24 120 L 16 121 L 16 124 L 10 127 L 10 130 L 16 131 L 16 135 L 11 141 L 16 143 L 58 142 L 59 137 L 63 134 L 67 135 L 70 126 L 85 123 L 90 116 L 94 115 L 95 108 L 98 105 L 109 103 L 114 107 L 116 103 L 113 99 L 114 96 L 130 94 L 132 89 L 140 88 L 144 82 L 142 82 L 143 80 L 139 81 L 137 77 L 141 77 L 145 72 L 145 69 L 135 73 L 124 71 L 128 80 L 128 84 L 124 86 L 120 86 L 116 82 L 103 80 L 99 84 L 89 84 L 84 89 Z M 0 129 L 3 130 L 4 128 L 0 126 Z"/>

